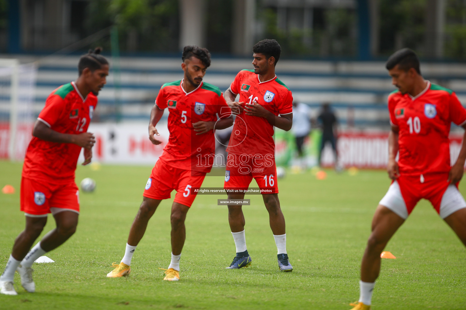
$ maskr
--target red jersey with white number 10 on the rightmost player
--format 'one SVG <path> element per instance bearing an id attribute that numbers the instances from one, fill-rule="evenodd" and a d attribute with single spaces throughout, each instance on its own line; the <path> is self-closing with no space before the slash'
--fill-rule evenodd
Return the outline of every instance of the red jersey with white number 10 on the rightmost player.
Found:
<path id="1" fill-rule="evenodd" d="M 399 127 L 400 173 L 450 171 L 450 126 L 466 122 L 466 110 L 454 92 L 428 81 L 416 97 L 392 92 L 388 110 L 391 124 Z"/>

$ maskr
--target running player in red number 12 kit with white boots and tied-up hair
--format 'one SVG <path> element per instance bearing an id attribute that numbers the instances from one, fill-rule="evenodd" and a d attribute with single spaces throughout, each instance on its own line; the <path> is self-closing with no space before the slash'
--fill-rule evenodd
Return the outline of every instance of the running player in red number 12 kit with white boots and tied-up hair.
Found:
<path id="1" fill-rule="evenodd" d="M 15 270 L 24 289 L 34 292 L 31 269 L 34 261 L 75 233 L 79 215 L 76 163 L 81 148 L 85 158 L 82 165 L 91 161 L 96 140 L 87 129 L 97 105 L 97 94 L 109 74 L 109 63 L 100 52 L 96 48 L 79 59 L 78 79 L 55 89 L 35 122 L 21 178 L 21 211 L 26 215 L 26 228 L 16 238 L 0 277 L 2 294 L 17 295 L 13 286 Z M 56 228 L 31 249 L 47 223 L 48 213 L 53 214 Z"/>

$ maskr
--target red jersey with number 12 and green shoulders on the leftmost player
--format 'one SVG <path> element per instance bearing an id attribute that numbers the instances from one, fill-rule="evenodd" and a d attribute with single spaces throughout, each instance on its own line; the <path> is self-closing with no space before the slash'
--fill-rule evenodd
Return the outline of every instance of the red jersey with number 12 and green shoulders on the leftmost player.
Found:
<path id="1" fill-rule="evenodd" d="M 56 132 L 79 134 L 87 132 L 97 97 L 89 92 L 83 98 L 74 82 L 55 89 L 39 113 L 39 120 Z M 27 147 L 22 176 L 60 183 L 75 179 L 76 163 L 81 146 L 57 143 L 33 137 Z"/>

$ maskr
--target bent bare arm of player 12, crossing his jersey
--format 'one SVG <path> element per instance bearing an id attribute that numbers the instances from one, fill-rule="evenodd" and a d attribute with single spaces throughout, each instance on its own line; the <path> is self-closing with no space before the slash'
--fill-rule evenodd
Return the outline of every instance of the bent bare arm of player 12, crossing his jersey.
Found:
<path id="1" fill-rule="evenodd" d="M 96 143 L 96 137 L 91 132 L 82 132 L 80 134 L 56 132 L 40 120 L 35 122 L 32 135 L 44 141 L 73 143 L 88 149 L 92 148 Z"/>

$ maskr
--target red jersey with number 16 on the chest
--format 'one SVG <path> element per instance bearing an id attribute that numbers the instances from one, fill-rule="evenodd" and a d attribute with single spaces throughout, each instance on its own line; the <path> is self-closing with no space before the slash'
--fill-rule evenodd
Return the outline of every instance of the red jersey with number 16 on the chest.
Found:
<path id="1" fill-rule="evenodd" d="M 231 92 L 240 94 L 238 102 L 257 102 L 268 111 L 279 114 L 293 112 L 293 96 L 288 87 L 275 76 L 260 82 L 254 70 L 242 70 L 230 86 Z M 275 157 L 274 126 L 267 119 L 246 115 L 246 111 L 236 116 L 233 132 L 226 152 L 246 155 L 267 155 Z"/>

